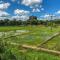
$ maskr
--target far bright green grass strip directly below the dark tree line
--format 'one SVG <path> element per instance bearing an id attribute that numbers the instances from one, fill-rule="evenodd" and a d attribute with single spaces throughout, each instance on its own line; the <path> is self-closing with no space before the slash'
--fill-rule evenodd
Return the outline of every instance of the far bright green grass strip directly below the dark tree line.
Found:
<path id="1" fill-rule="evenodd" d="M 32 30 L 32 31 L 48 31 L 51 32 L 51 29 L 49 27 L 45 26 L 0 26 L 0 31 L 11 31 L 11 30 Z M 52 32 L 60 31 L 59 27 L 53 28 Z"/>

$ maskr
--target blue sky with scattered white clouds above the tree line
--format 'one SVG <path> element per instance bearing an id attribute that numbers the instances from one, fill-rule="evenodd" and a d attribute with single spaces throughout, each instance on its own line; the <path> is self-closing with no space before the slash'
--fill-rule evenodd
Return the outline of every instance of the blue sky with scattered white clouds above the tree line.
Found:
<path id="1" fill-rule="evenodd" d="M 0 0 L 0 19 L 60 16 L 60 0 Z"/>

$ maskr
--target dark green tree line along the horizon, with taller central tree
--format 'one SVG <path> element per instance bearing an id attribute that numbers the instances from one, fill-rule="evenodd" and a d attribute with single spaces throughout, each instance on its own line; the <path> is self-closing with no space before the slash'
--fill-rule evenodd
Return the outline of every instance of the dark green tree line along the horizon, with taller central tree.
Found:
<path id="1" fill-rule="evenodd" d="M 28 20 L 0 20 L 0 26 L 20 26 L 20 25 L 51 25 L 60 24 L 60 19 L 55 20 L 38 20 L 35 16 L 30 16 Z"/>

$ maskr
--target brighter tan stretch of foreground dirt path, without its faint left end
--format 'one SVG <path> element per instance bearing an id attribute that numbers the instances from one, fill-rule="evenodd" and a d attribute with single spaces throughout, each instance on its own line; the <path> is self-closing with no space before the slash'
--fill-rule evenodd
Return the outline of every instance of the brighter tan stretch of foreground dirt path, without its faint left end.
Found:
<path id="1" fill-rule="evenodd" d="M 45 48 L 39 48 L 36 46 L 27 46 L 27 45 L 22 45 L 22 47 L 26 48 L 26 49 L 33 49 L 33 50 L 37 50 L 37 51 L 43 51 L 43 52 L 47 52 L 47 53 L 51 53 L 51 54 L 60 55 L 60 51 L 54 51 L 54 50 L 49 50 L 49 49 L 45 49 Z"/>

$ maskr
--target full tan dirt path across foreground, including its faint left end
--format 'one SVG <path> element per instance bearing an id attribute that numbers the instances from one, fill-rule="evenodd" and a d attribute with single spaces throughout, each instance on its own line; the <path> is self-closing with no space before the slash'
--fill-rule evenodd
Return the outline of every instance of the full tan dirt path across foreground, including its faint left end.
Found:
<path id="1" fill-rule="evenodd" d="M 17 46 L 20 45 L 18 43 L 13 43 L 13 42 L 8 42 L 8 44 L 17 45 Z M 54 50 L 49 50 L 49 49 L 45 49 L 45 48 L 41 48 L 41 47 L 37 47 L 37 46 L 24 45 L 24 44 L 20 45 L 20 46 L 25 49 L 32 49 L 32 50 L 36 50 L 36 51 L 43 51 L 43 52 L 50 53 L 50 54 L 60 55 L 60 51 L 54 51 Z"/>

